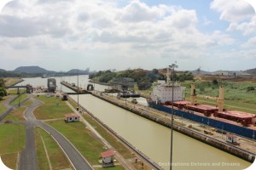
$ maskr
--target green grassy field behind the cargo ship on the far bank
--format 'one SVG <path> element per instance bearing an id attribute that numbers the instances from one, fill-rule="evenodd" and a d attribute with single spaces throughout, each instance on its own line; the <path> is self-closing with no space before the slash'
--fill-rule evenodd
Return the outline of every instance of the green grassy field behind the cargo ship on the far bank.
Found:
<path id="1" fill-rule="evenodd" d="M 183 83 L 186 86 L 186 99 L 190 99 L 190 83 Z M 219 84 L 224 85 L 224 108 L 235 111 L 245 111 L 256 114 L 256 82 L 228 82 L 223 81 Z M 255 90 L 247 92 L 248 87 Z M 196 82 L 196 94 L 204 96 L 218 97 L 218 85 L 212 82 Z M 206 99 L 199 96 L 196 100 L 200 104 L 217 105 L 215 99 Z"/>

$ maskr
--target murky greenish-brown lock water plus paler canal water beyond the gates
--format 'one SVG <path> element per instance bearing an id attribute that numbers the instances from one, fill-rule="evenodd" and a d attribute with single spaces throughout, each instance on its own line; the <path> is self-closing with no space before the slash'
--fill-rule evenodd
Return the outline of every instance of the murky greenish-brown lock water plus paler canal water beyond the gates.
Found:
<path id="1" fill-rule="evenodd" d="M 64 77 L 56 77 L 60 82 Z M 33 86 L 44 85 L 47 79 L 28 78 L 23 84 L 31 83 Z M 65 81 L 76 82 L 77 77 L 65 77 Z M 80 87 L 88 83 L 88 77 L 80 76 Z M 21 82 L 22 83 L 22 82 Z M 41 84 L 40 84 L 41 83 Z M 84 84 L 83 84 L 84 83 Z M 61 87 L 58 84 L 58 87 Z M 67 92 L 69 89 L 61 87 Z M 96 85 L 96 89 L 104 89 L 105 86 Z M 77 95 L 71 96 L 77 99 Z M 170 165 L 170 141 L 171 130 L 155 122 L 137 116 L 130 111 L 125 111 L 115 105 L 111 105 L 102 99 L 90 94 L 79 95 L 79 104 L 91 111 L 102 122 L 119 133 L 124 139 L 141 150 L 145 155 L 158 163 L 161 167 L 169 169 Z M 232 169 L 241 170 L 249 167 L 250 162 L 243 161 L 222 150 L 201 143 L 181 133 L 173 133 L 173 170 L 183 169 Z"/>

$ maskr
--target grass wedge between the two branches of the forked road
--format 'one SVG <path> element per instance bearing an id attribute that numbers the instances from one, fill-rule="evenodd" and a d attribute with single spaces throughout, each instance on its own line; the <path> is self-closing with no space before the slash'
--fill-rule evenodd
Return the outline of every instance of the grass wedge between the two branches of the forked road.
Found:
<path id="1" fill-rule="evenodd" d="M 42 128 L 37 127 L 35 129 L 35 135 L 37 144 L 36 147 L 38 155 L 38 167 L 41 170 L 49 169 L 49 163 L 44 151 L 44 144 L 49 155 L 49 161 L 51 163 L 52 169 L 58 170 L 65 168 L 73 168 L 65 154 L 62 152 L 59 145 L 55 142 L 54 139 L 51 138 L 49 133 L 46 133 Z M 41 137 L 44 139 L 44 144 Z"/>

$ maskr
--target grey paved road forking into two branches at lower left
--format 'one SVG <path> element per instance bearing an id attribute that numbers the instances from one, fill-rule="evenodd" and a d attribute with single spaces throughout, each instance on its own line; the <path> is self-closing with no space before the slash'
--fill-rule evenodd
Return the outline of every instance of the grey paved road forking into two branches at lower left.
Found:
<path id="1" fill-rule="evenodd" d="M 42 127 L 45 131 L 52 135 L 52 137 L 61 145 L 62 150 L 67 155 L 68 159 L 72 162 L 73 167 L 77 170 L 90 170 L 93 169 L 90 167 L 90 164 L 84 159 L 83 156 L 80 155 L 79 151 L 73 147 L 65 137 L 61 135 L 58 131 L 54 128 L 49 127 L 44 122 L 36 120 L 33 116 L 32 111 L 42 105 L 40 101 L 37 99 L 30 98 L 33 101 L 33 105 L 30 105 L 24 116 L 26 117 L 26 149 L 23 150 L 20 154 L 20 170 L 37 170 L 37 156 L 35 153 L 35 140 L 34 140 L 34 127 Z"/>

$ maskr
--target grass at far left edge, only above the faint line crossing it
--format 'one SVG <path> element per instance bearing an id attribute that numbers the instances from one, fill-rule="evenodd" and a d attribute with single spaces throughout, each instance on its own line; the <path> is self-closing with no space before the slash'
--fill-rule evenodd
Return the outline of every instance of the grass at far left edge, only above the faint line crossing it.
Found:
<path id="1" fill-rule="evenodd" d="M 0 136 L 0 154 L 8 154 L 24 150 L 24 125 L 0 124 Z"/>

